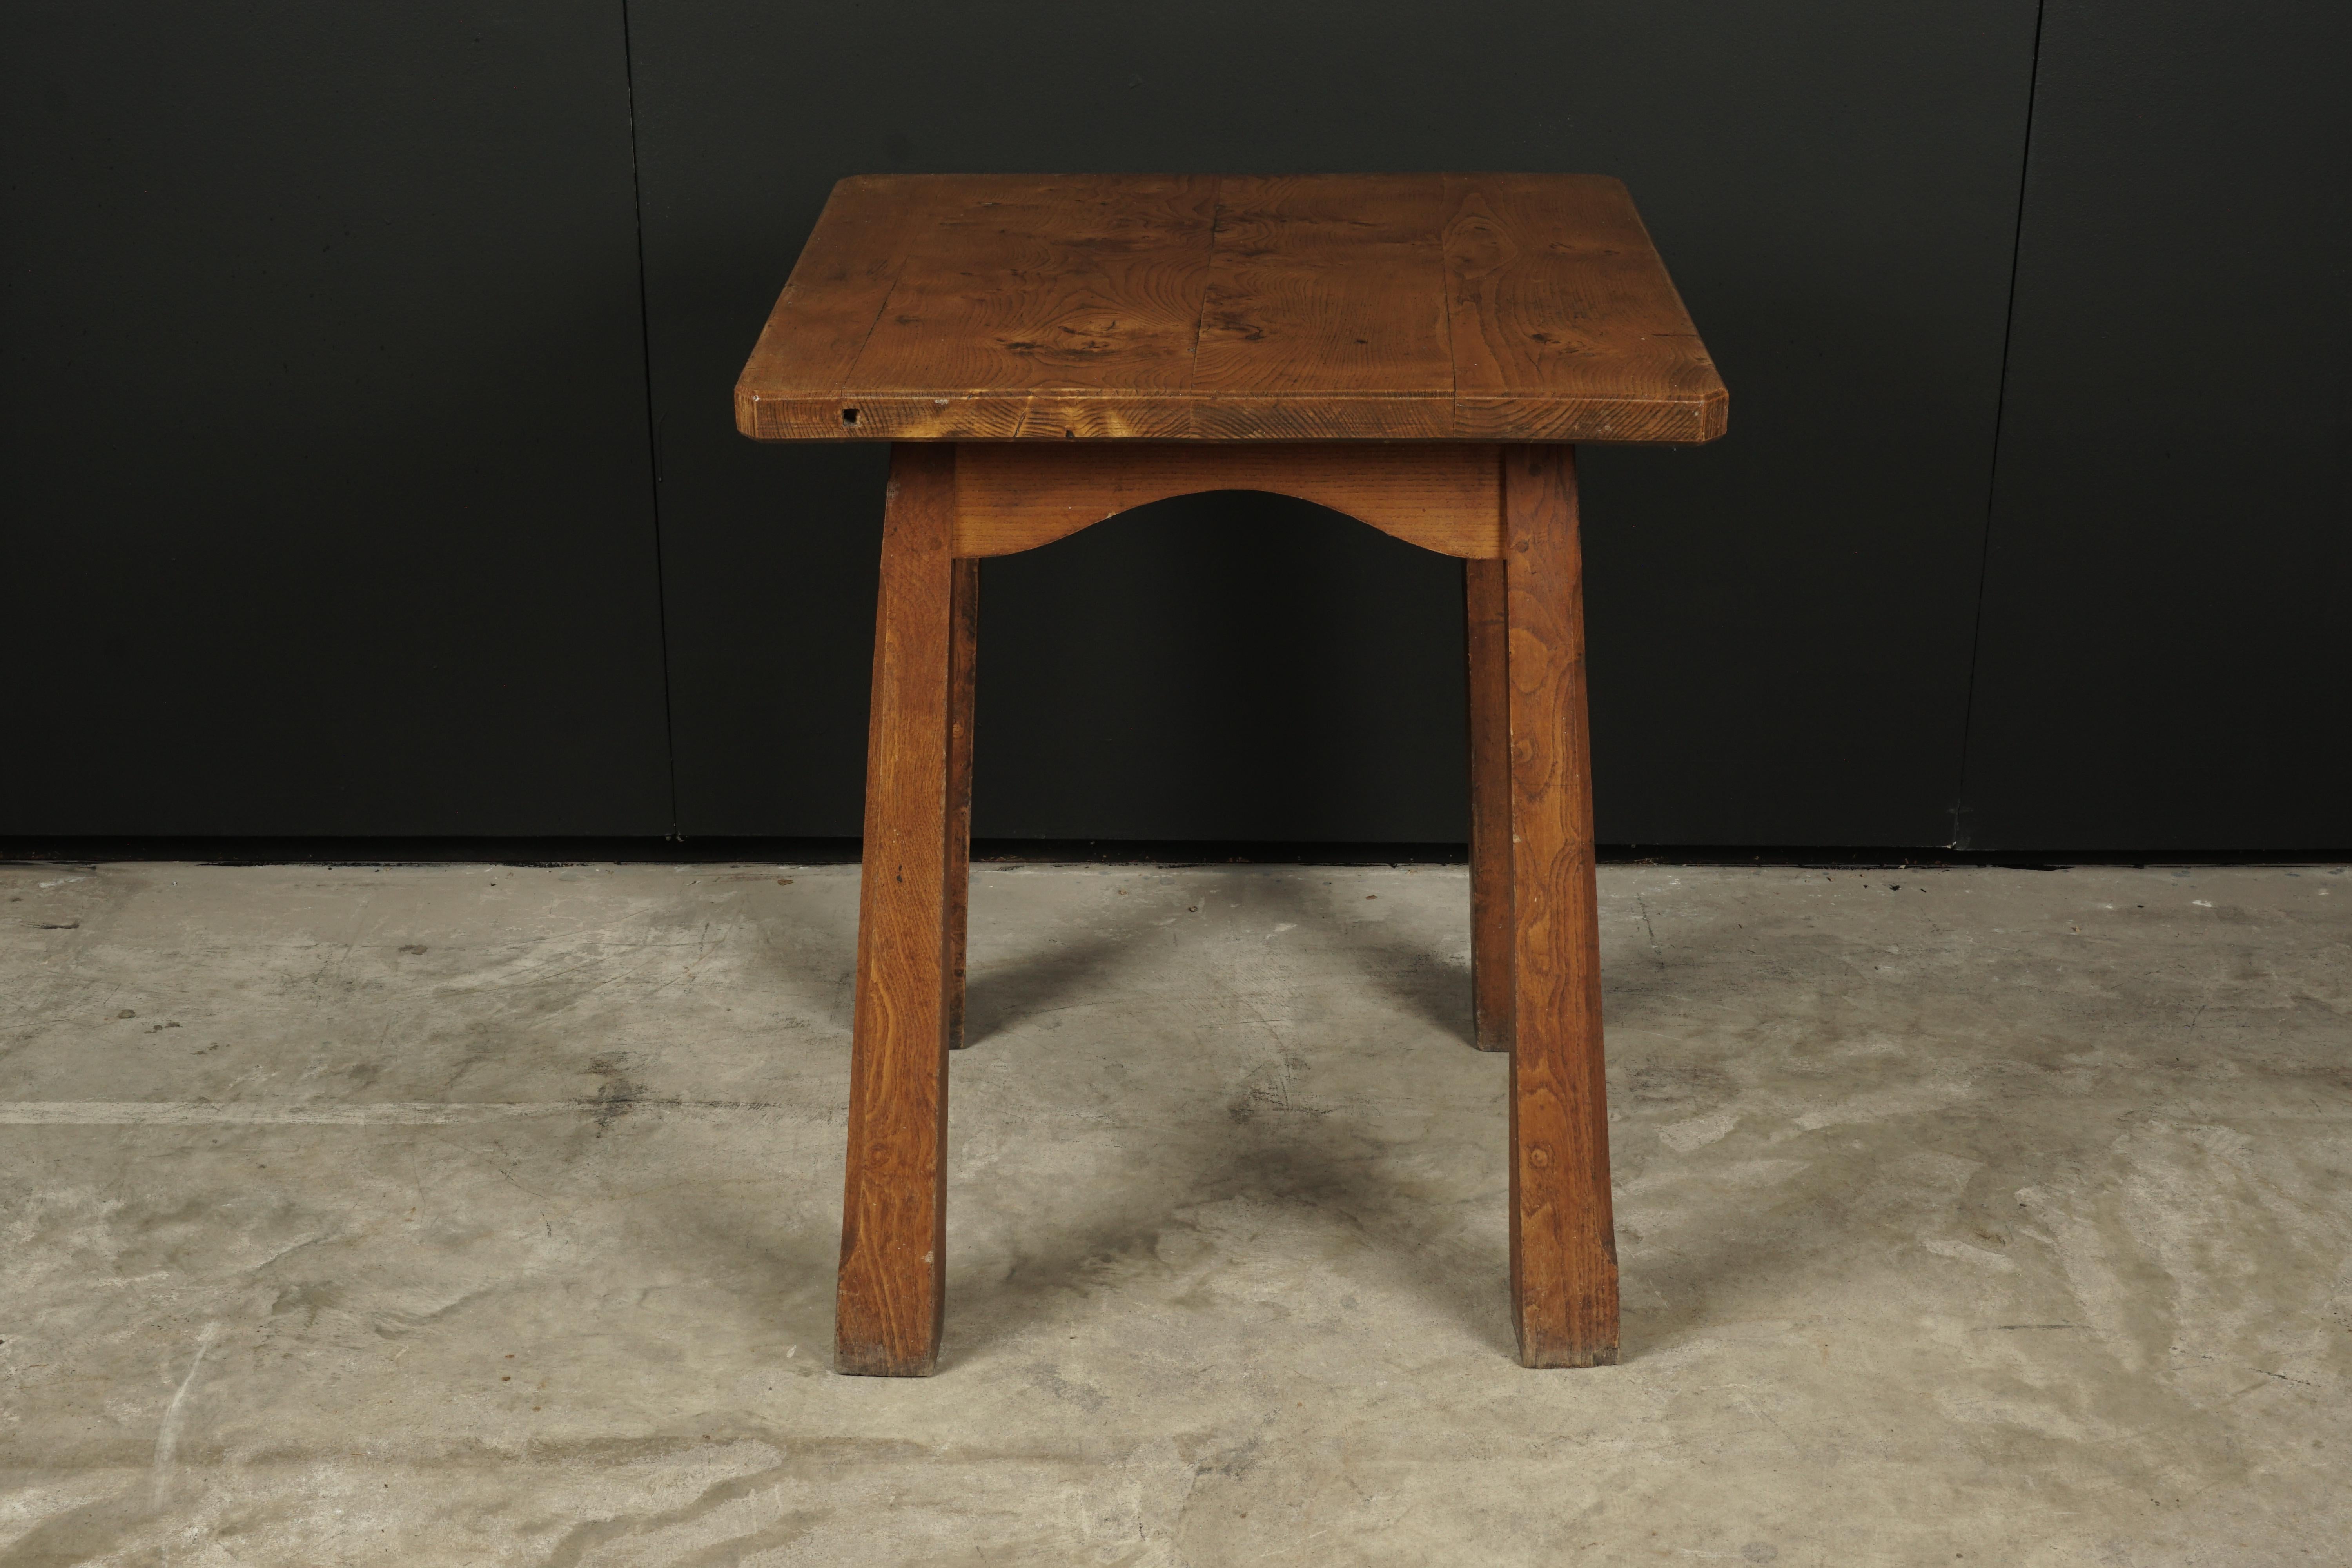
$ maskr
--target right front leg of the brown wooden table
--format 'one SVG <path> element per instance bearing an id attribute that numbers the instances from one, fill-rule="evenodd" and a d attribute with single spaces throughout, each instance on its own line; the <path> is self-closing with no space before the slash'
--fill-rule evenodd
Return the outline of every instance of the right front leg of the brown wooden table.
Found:
<path id="1" fill-rule="evenodd" d="M 1503 569 L 1517 983 L 1512 1319 L 1522 1363 L 1606 1366 L 1618 1347 L 1618 1272 L 1571 447 L 1505 449 Z"/>

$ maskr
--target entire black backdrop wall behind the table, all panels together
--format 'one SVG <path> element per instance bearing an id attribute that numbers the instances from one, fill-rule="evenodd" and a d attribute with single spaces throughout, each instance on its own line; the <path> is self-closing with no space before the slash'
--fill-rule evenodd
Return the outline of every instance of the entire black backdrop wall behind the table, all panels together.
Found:
<path id="1" fill-rule="evenodd" d="M 1623 176 L 1731 386 L 1585 451 L 1616 844 L 2352 842 L 2352 9 L 21 2 L 12 835 L 854 835 L 880 451 L 727 390 L 863 169 Z M 983 581 L 978 832 L 1463 837 L 1458 567 Z"/>

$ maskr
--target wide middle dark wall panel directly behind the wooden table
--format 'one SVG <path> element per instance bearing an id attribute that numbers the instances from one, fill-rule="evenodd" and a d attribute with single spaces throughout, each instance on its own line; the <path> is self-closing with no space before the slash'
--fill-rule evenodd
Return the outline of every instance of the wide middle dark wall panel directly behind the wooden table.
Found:
<path id="1" fill-rule="evenodd" d="M 837 176 L 1451 167 L 1623 176 L 1731 383 L 1715 447 L 1588 451 L 1602 837 L 1945 842 L 2032 26 L 637 0 L 684 830 L 858 823 L 880 454 L 727 407 Z M 990 564 L 978 830 L 1461 837 L 1458 581 L 1230 496 Z"/>

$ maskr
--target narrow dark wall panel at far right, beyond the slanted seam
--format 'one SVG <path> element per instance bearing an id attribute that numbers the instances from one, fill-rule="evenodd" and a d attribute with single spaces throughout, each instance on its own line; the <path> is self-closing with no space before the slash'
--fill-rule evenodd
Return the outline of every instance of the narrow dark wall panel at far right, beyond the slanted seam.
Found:
<path id="1" fill-rule="evenodd" d="M 1980 849 L 2352 839 L 2352 9 L 2049 0 Z"/>

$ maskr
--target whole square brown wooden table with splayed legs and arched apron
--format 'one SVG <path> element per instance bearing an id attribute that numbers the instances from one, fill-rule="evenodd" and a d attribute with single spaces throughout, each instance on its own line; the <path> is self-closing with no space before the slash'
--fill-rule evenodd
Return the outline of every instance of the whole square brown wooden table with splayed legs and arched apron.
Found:
<path id="1" fill-rule="evenodd" d="M 920 1375 L 946 1279 L 978 562 L 1265 489 L 1458 555 L 1477 1044 L 1510 1051 L 1526 1366 L 1616 1361 L 1569 442 L 1705 442 L 1724 386 L 1590 174 L 844 179 L 743 435 L 887 440 L 837 1366 Z"/>

